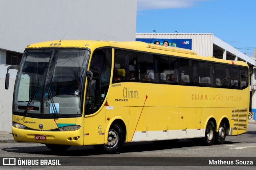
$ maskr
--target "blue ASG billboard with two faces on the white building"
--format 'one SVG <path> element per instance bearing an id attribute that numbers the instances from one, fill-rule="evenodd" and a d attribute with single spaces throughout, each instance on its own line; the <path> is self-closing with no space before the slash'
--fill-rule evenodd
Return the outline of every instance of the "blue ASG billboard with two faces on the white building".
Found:
<path id="1" fill-rule="evenodd" d="M 145 43 L 154 43 L 159 41 L 160 45 L 163 45 L 164 40 L 168 41 L 169 46 L 179 47 L 183 49 L 192 49 L 192 39 L 157 39 L 157 38 L 136 38 L 136 41 L 142 41 Z"/>

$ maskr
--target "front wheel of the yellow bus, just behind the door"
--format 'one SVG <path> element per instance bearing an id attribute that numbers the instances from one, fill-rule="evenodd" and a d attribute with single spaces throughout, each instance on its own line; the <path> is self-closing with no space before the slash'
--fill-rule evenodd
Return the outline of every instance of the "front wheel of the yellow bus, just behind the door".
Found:
<path id="1" fill-rule="evenodd" d="M 113 123 L 108 131 L 108 143 L 103 150 L 108 153 L 118 152 L 124 144 L 124 131 L 120 125 Z"/>

